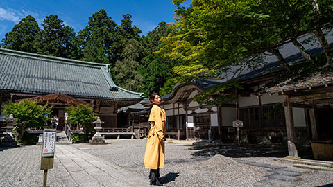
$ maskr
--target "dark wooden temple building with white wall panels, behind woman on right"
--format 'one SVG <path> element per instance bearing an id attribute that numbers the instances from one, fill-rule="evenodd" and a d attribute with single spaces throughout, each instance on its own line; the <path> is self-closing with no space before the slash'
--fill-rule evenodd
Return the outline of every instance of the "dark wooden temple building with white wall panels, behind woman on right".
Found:
<path id="1" fill-rule="evenodd" d="M 305 40 L 309 35 L 301 37 Z M 327 36 L 330 44 L 333 37 Z M 305 44 L 311 55 L 323 50 L 320 44 Z M 280 53 L 290 66 L 305 62 L 293 44 L 284 44 Z M 264 58 L 265 66 L 248 70 L 237 79 L 244 89 L 237 90 L 237 100 L 224 105 L 205 105 L 194 101 L 201 91 L 223 84 L 226 80 L 193 80 L 176 84 L 173 91 L 162 96 L 161 107 L 167 114 L 167 134 L 178 139 L 221 139 L 236 141 L 232 121 L 239 119 L 241 142 L 287 143 L 298 147 L 310 141 L 333 141 L 333 76 L 332 69 L 316 71 L 304 77 L 289 77 L 278 59 Z M 285 78 L 279 79 L 278 77 Z M 221 93 L 223 96 L 225 93 Z M 212 96 L 219 97 L 219 95 Z M 144 103 L 147 105 L 148 102 Z"/>

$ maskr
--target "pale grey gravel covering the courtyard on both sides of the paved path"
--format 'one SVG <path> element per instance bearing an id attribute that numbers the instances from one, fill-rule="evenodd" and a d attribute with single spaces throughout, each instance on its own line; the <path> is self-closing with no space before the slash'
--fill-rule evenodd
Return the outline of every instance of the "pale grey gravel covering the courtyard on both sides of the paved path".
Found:
<path id="1" fill-rule="evenodd" d="M 143 166 L 146 139 L 107 140 L 107 143 L 71 146 L 117 164 L 124 170 L 137 172 L 148 180 L 149 170 Z M 283 148 L 270 145 L 244 145 L 243 148 L 238 148 L 237 145 L 219 143 L 181 145 L 167 141 L 167 163 L 166 167 L 160 170 L 161 181 L 164 186 L 254 186 L 257 181 L 267 179 L 264 176 L 271 174 L 269 169 L 237 163 L 233 158 L 291 167 L 291 163 L 274 160 L 279 159 L 284 152 Z M 211 158 L 203 161 L 181 160 L 203 157 Z M 40 146 L 0 148 L 0 159 L 1 187 L 42 186 Z M 298 181 L 298 186 L 333 186 L 332 171 L 316 171 L 300 177 L 302 180 Z M 49 170 L 48 186 L 64 186 L 59 180 L 57 168 Z"/>

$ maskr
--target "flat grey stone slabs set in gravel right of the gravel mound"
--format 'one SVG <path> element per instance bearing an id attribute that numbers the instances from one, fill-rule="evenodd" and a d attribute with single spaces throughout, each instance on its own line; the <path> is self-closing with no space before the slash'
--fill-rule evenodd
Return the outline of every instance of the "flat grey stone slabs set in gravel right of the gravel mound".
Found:
<path id="1" fill-rule="evenodd" d="M 275 166 L 268 163 L 260 163 L 253 161 L 244 161 L 239 159 L 234 159 L 239 163 L 248 164 L 251 166 L 258 166 L 264 168 L 271 168 L 269 172 L 273 172 L 271 175 L 266 175 L 268 179 L 264 179 L 255 184 L 257 187 L 262 186 L 298 186 L 296 181 L 300 181 L 302 178 L 297 177 L 302 175 L 302 173 L 314 172 L 315 170 L 308 170 L 302 168 L 287 168 L 284 166 Z"/>

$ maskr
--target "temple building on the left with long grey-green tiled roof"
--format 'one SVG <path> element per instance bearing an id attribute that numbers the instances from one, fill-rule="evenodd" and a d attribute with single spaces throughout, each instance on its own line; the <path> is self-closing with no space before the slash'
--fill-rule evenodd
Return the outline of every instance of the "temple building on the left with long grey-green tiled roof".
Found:
<path id="1" fill-rule="evenodd" d="M 59 118 L 58 130 L 64 129 L 67 106 L 89 105 L 105 122 L 102 127 L 112 128 L 117 127 L 117 110 L 142 98 L 142 93 L 114 84 L 107 64 L 0 48 L 1 106 L 23 99 L 48 104 Z"/>

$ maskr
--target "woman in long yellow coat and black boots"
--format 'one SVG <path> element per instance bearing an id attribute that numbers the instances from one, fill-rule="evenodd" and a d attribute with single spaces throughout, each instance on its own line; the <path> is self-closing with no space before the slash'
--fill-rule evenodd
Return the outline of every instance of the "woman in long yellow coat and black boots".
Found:
<path id="1" fill-rule="evenodd" d="M 167 129 L 167 117 L 164 109 L 159 107 L 160 95 L 153 93 L 150 96 L 153 107 L 149 115 L 151 129 L 148 132 L 146 152 L 144 153 L 144 166 L 151 169 L 149 181 L 153 185 L 162 186 L 160 183 L 160 168 L 164 168 L 164 141 L 165 130 Z"/>

